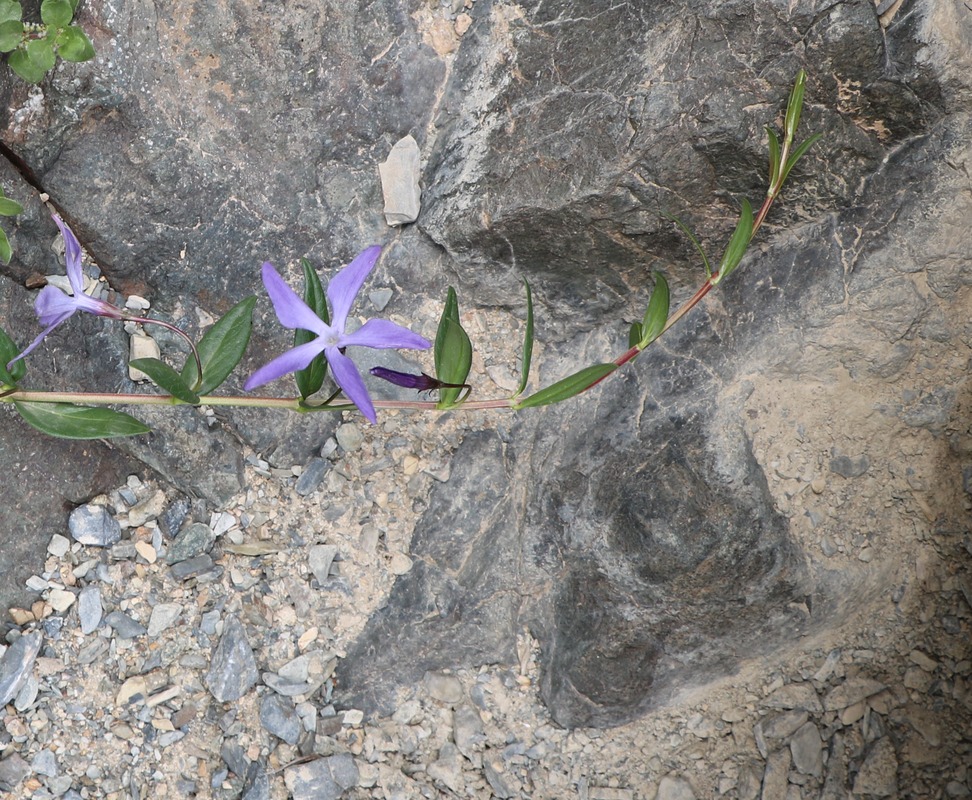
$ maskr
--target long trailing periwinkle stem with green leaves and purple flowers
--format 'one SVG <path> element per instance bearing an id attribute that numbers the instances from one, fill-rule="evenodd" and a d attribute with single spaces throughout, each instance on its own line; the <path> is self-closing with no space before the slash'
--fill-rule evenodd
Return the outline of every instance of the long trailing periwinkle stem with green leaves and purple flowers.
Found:
<path id="1" fill-rule="evenodd" d="M 69 0 L 45 0 L 44 5 L 48 2 L 68 3 Z M 9 4 L 9 0 L 0 0 L 0 11 L 4 8 L 4 3 Z M 230 309 L 196 343 L 174 325 L 136 316 L 126 309 L 86 294 L 81 269 L 81 245 L 71 229 L 55 215 L 54 221 L 64 238 L 71 294 L 50 285 L 41 290 L 35 301 L 35 311 L 42 331 L 26 347 L 18 346 L 0 328 L 0 402 L 13 404 L 24 420 L 44 433 L 70 439 L 98 439 L 149 431 L 135 417 L 110 408 L 113 405 L 245 406 L 307 413 L 357 408 L 368 420 L 375 422 L 381 408 L 518 410 L 567 400 L 591 389 L 624 364 L 636 359 L 646 347 L 675 325 L 714 286 L 722 283 L 739 266 L 793 166 L 819 138 L 815 134 L 803 143 L 795 144 L 805 86 L 806 75 L 801 70 L 790 92 L 782 138 L 771 128 L 767 128 L 769 185 L 766 196 L 755 214 L 749 201 L 745 198 L 741 200 L 739 220 L 718 263 L 713 265 L 692 232 L 679 219 L 670 217 L 695 246 L 705 270 L 705 280 L 695 294 L 674 313 L 670 313 L 668 283 L 664 276 L 655 273 L 654 289 L 644 316 L 631 325 L 628 347 L 621 355 L 613 360 L 585 367 L 532 394 L 524 396 L 530 383 L 534 337 L 533 300 L 526 281 L 526 323 L 519 354 L 520 382 L 512 396 L 473 398 L 473 387 L 467 382 L 472 366 L 472 343 L 462 327 L 459 301 L 452 287 L 446 292 L 445 306 L 434 343 L 408 328 L 381 319 L 370 319 L 356 329 L 349 329 L 348 320 L 352 306 L 380 256 L 381 248 L 377 246 L 364 250 L 334 275 L 326 289 L 310 262 L 302 259 L 303 298 L 294 292 L 273 265 L 264 263 L 263 284 L 277 319 L 283 327 L 293 330 L 294 334 L 289 348 L 246 379 L 244 390 L 249 393 L 264 384 L 293 374 L 297 394 L 292 397 L 213 394 L 232 374 L 246 352 L 256 297 L 248 297 Z M 190 355 L 179 369 L 157 358 L 141 358 L 130 362 L 130 366 L 147 375 L 161 393 L 103 394 L 33 391 L 24 388 L 22 382 L 27 373 L 27 356 L 44 346 L 44 338 L 54 328 L 71 325 L 72 317 L 78 311 L 108 320 L 162 325 L 188 342 Z M 434 376 L 424 372 L 405 373 L 385 367 L 374 367 L 371 374 L 403 389 L 427 392 L 430 395 L 435 393 L 436 396 L 418 400 L 372 399 L 354 363 L 355 352 L 359 348 L 432 348 Z M 334 391 L 330 394 L 324 390 L 328 370 L 335 384 Z"/>

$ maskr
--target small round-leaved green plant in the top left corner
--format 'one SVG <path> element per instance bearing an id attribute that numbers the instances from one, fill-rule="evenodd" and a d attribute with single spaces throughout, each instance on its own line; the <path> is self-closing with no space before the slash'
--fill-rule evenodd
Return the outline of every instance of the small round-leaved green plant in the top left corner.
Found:
<path id="1" fill-rule="evenodd" d="M 40 83 L 57 57 L 65 61 L 90 61 L 94 46 L 77 25 L 72 25 L 78 0 L 43 0 L 41 21 L 24 22 L 23 7 L 16 0 L 0 0 L 0 53 L 27 83 Z"/>

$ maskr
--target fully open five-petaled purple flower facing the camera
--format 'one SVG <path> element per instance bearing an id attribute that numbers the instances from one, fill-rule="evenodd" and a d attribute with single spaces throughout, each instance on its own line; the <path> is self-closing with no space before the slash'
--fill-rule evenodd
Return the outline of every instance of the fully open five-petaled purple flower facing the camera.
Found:
<path id="1" fill-rule="evenodd" d="M 301 328 L 316 333 L 317 338 L 298 345 L 264 365 L 243 385 L 247 391 L 269 383 L 288 372 L 304 369 L 314 357 L 324 353 L 331 374 L 348 399 L 372 422 L 377 421 L 374 403 L 368 396 L 364 380 L 354 362 L 344 355 L 345 347 L 404 348 L 425 350 L 431 343 L 408 328 L 383 319 L 369 319 L 353 333 L 346 333 L 348 312 L 361 285 L 375 266 L 381 248 L 369 247 L 348 266 L 335 275 L 327 285 L 327 299 L 331 304 L 331 324 L 328 325 L 310 306 L 301 300 L 270 263 L 263 265 L 263 285 L 273 303 L 277 319 L 285 328 Z"/>

